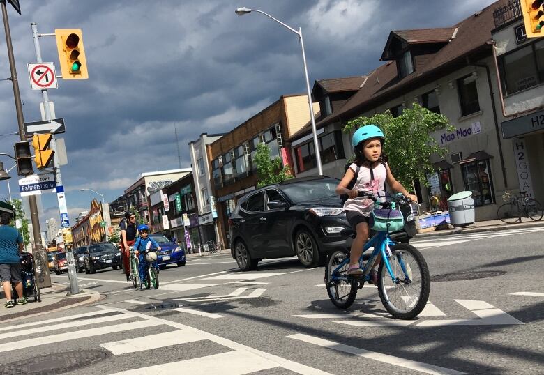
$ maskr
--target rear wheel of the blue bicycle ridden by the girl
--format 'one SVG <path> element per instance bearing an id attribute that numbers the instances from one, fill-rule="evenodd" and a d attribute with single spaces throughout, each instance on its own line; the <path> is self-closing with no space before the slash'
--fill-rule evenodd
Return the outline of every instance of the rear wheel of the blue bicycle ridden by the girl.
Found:
<path id="1" fill-rule="evenodd" d="M 333 305 L 339 309 L 347 309 L 354 303 L 355 297 L 357 296 L 357 282 L 353 278 L 347 280 L 335 279 L 335 277 L 347 277 L 349 261 L 337 272 L 334 272 L 346 257 L 348 257 L 348 255 L 345 252 L 336 250 L 328 255 L 325 267 L 325 286 L 328 298 L 331 298 Z"/>

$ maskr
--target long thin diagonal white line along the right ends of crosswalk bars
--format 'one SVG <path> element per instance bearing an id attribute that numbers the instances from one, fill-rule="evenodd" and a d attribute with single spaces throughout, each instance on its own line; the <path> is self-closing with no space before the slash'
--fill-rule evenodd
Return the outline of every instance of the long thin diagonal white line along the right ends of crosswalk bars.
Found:
<path id="1" fill-rule="evenodd" d="M 121 309 L 119 307 L 108 307 L 108 306 L 98 306 L 101 309 L 114 309 L 116 311 L 122 312 L 123 314 L 129 314 L 133 316 L 138 316 L 142 319 L 150 320 L 156 322 L 156 324 L 163 324 L 166 326 L 178 328 L 179 330 L 185 330 L 186 332 L 192 331 L 195 332 L 195 335 L 202 337 L 202 339 L 209 339 L 212 342 L 215 342 L 216 344 L 220 344 L 222 346 L 227 346 L 227 348 L 230 348 L 234 351 L 246 351 L 248 353 L 252 353 L 254 355 L 257 355 L 260 358 L 264 358 L 264 360 L 271 360 L 276 364 L 276 367 L 282 367 L 284 369 L 288 369 L 292 372 L 296 372 L 302 375 L 331 375 L 328 372 L 321 371 L 319 369 L 315 369 L 310 366 L 303 365 L 298 362 L 294 362 L 292 360 L 287 360 L 285 358 L 279 357 L 278 355 L 273 355 L 271 353 L 266 353 L 264 351 L 259 351 L 258 349 L 252 348 L 251 346 L 245 346 L 243 344 L 239 344 L 238 342 L 234 342 L 229 339 L 225 339 L 223 337 L 213 335 L 209 332 L 205 332 L 203 330 L 197 330 L 196 328 L 192 328 L 190 326 L 185 326 L 181 323 L 176 323 L 173 321 L 168 321 L 167 319 L 158 318 L 157 316 L 149 316 L 146 314 L 142 314 L 139 312 L 131 312 L 126 309 Z M 220 362 L 219 362 L 220 363 Z M 221 363 L 220 363 L 221 365 Z M 176 372 L 174 374 L 180 373 L 180 368 L 176 368 Z M 190 373 L 190 372 L 188 372 Z M 213 369 L 213 371 L 208 371 L 205 374 L 216 374 L 217 373 L 217 367 Z M 131 372 L 132 374 L 132 372 Z M 156 372 L 151 372 L 151 374 L 156 374 Z M 223 374 L 223 372 L 221 372 Z M 225 373 L 228 374 L 228 373 Z"/>

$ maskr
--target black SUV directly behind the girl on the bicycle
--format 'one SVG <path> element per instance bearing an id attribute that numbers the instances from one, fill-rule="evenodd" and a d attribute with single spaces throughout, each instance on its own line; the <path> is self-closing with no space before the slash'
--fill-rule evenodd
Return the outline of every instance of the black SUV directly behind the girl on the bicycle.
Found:
<path id="1" fill-rule="evenodd" d="M 315 267 L 328 252 L 348 250 L 352 238 L 341 232 L 351 227 L 335 193 L 338 182 L 326 176 L 292 178 L 241 197 L 229 217 L 231 254 L 239 268 L 254 270 L 261 259 L 294 255 L 303 266 Z M 402 231 L 394 237 L 407 242 L 410 236 Z"/>

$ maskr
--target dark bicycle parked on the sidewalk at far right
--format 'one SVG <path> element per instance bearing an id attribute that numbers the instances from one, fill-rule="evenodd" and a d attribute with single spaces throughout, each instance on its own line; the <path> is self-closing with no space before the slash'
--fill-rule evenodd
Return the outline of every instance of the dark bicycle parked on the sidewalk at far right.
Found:
<path id="1" fill-rule="evenodd" d="M 502 194 L 502 199 L 505 203 L 497 210 L 497 216 L 506 224 L 521 222 L 522 217 L 529 217 L 531 220 L 541 220 L 544 215 L 542 205 L 536 199 L 527 197 L 527 192 L 520 194 L 510 194 L 505 192 Z"/>

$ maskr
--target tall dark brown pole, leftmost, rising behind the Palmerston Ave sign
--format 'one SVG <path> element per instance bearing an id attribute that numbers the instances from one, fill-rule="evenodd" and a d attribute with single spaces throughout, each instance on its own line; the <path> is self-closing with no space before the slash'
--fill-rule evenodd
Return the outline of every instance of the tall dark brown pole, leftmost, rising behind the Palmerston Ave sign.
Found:
<path id="1" fill-rule="evenodd" d="M 11 83 L 13 84 L 13 97 L 15 98 L 15 112 L 17 112 L 17 123 L 19 125 L 19 137 L 21 141 L 26 141 L 27 136 L 24 132 L 24 116 L 22 112 L 21 94 L 19 91 L 19 81 L 17 80 L 15 58 L 13 57 L 13 45 L 11 44 L 10 24 L 8 20 L 8 10 L 6 8 L 6 0 L 0 0 L 0 6 L 2 7 L 3 29 L 6 32 L 6 45 L 8 45 L 8 59 L 10 62 Z M 32 234 L 34 237 L 33 250 L 41 250 L 42 236 L 40 230 L 40 218 L 38 217 L 38 205 L 36 204 L 36 197 L 34 195 L 29 196 L 29 206 Z M 47 257 L 45 259 L 47 259 Z M 47 264 L 45 264 L 45 268 L 49 270 Z"/>

